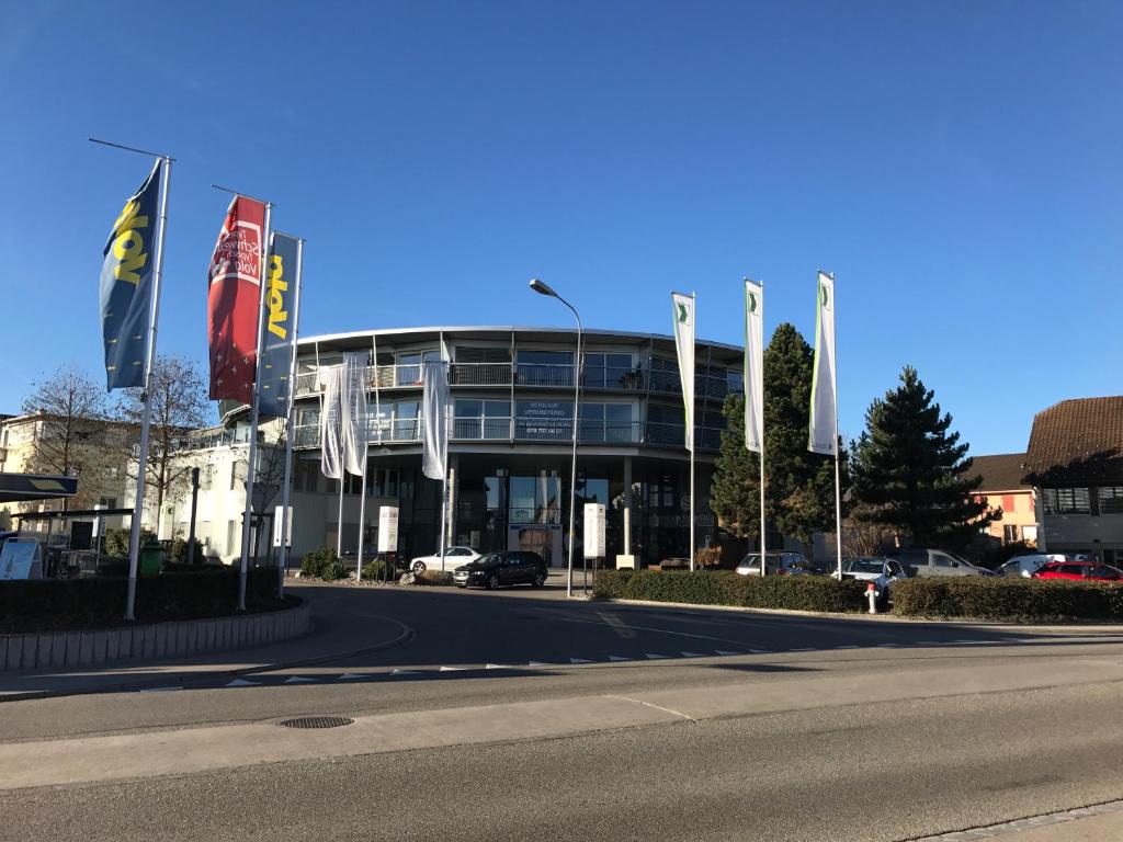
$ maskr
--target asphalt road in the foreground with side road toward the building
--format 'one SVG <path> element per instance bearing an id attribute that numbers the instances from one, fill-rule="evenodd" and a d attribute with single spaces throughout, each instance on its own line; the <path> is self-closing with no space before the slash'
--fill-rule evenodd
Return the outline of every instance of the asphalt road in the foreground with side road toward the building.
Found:
<path id="1" fill-rule="evenodd" d="M 0 840 L 904 840 L 1123 797 L 1123 635 L 303 593 L 340 651 L 412 639 L 2 704 Z"/>

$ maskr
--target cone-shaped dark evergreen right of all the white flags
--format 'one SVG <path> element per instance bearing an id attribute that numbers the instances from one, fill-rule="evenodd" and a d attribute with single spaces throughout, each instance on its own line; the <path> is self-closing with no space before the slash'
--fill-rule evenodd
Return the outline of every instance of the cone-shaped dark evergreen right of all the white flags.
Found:
<path id="1" fill-rule="evenodd" d="M 1001 515 L 977 495 L 969 446 L 951 430 L 912 366 L 901 385 L 866 411 L 866 431 L 853 446 L 857 515 L 894 529 L 917 546 L 960 548 Z"/>

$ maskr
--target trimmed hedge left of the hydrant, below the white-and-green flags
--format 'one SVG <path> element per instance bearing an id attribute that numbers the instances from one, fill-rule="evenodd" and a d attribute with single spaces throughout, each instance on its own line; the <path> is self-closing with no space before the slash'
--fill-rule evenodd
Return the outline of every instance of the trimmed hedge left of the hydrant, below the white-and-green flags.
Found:
<path id="1" fill-rule="evenodd" d="M 730 570 L 657 573 L 605 570 L 593 583 L 596 596 L 691 605 L 858 612 L 866 607 L 865 583 L 827 576 L 741 576 Z"/>

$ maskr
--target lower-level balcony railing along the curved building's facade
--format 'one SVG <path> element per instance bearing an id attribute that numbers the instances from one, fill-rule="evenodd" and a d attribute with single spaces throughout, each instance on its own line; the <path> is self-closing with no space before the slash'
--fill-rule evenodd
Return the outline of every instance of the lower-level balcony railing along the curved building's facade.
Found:
<path id="1" fill-rule="evenodd" d="M 582 445 L 647 445 L 651 447 L 683 447 L 682 424 L 656 421 L 590 421 L 578 422 L 578 441 Z M 523 441 L 567 442 L 573 440 L 573 419 L 539 418 L 457 418 L 449 430 L 454 441 Z M 367 425 L 371 445 L 417 443 L 421 441 L 421 422 L 416 419 Z M 712 427 L 695 429 L 699 449 L 716 450 L 721 446 L 721 430 Z M 320 429 L 316 424 L 295 428 L 296 448 L 320 445 Z"/>

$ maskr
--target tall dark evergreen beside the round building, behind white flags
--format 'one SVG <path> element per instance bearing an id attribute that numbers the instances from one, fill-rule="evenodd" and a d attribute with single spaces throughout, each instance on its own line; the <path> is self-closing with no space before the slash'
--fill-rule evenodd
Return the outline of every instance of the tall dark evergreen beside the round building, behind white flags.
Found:
<path id="1" fill-rule="evenodd" d="M 765 350 L 765 511 L 785 536 L 811 543 L 834 529 L 834 464 L 807 450 L 811 346 L 780 324 Z M 711 506 L 721 527 L 740 538 L 760 533 L 760 464 L 745 449 L 745 399 L 725 401 L 727 427 L 714 464 Z M 846 454 L 842 463 L 846 489 Z"/>

